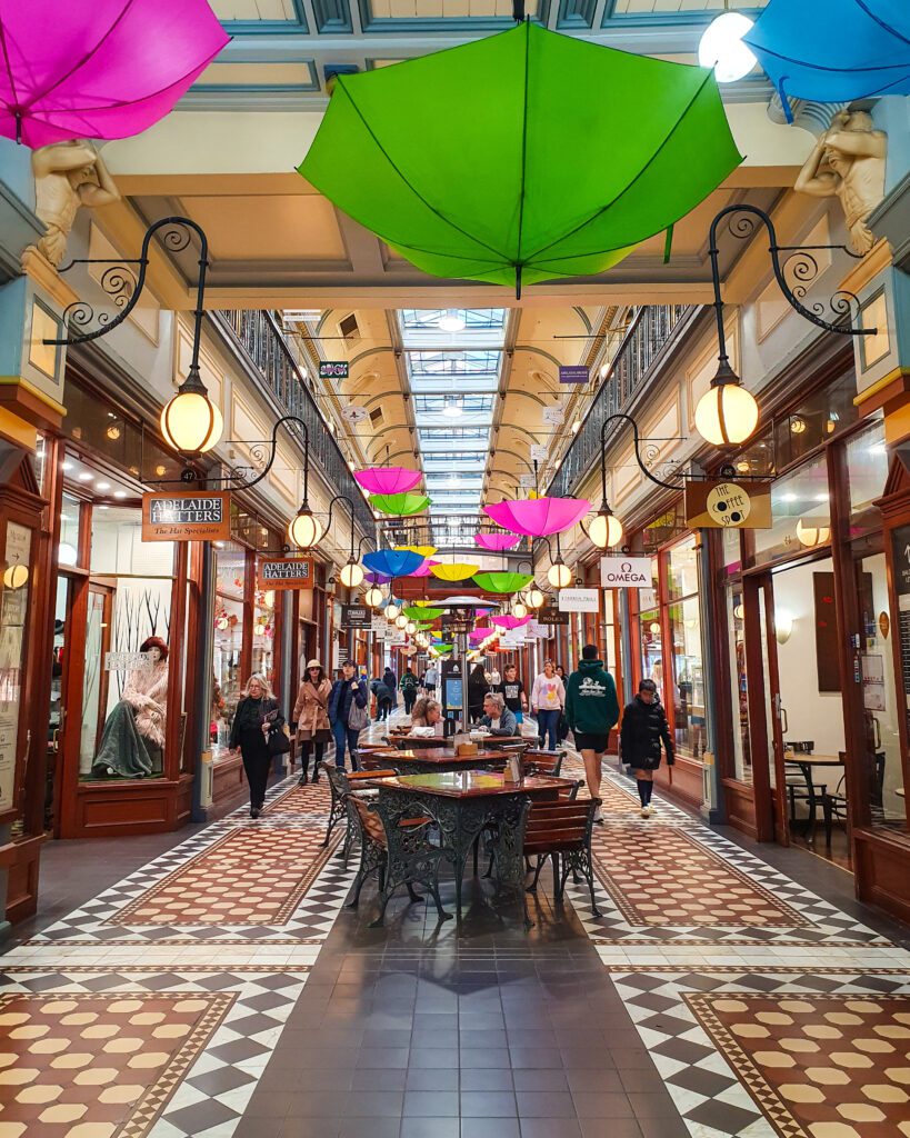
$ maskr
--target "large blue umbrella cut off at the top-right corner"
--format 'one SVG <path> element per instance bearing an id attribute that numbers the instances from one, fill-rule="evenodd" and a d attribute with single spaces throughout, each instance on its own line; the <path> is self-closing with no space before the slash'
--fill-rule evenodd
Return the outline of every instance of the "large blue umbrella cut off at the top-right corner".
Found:
<path id="1" fill-rule="evenodd" d="M 743 39 L 784 102 L 910 94 L 908 0 L 770 0 Z"/>

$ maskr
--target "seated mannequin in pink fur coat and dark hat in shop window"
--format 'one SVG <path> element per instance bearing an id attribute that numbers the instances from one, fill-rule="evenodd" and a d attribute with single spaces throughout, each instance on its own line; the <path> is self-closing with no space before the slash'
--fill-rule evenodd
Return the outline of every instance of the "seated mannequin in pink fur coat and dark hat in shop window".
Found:
<path id="1" fill-rule="evenodd" d="M 96 778 L 146 778 L 164 770 L 167 645 L 150 636 L 140 652 L 150 654 L 151 667 L 130 674 L 119 702 L 107 717 L 92 762 Z"/>

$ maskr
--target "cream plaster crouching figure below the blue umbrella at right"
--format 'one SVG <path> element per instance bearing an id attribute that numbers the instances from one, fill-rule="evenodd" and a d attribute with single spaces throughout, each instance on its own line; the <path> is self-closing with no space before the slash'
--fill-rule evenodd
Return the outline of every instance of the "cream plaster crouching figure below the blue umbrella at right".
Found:
<path id="1" fill-rule="evenodd" d="M 850 247 L 866 254 L 876 242 L 867 225 L 885 196 L 887 135 L 872 129 L 864 110 L 841 110 L 819 138 L 794 187 L 817 198 L 841 199 Z"/>

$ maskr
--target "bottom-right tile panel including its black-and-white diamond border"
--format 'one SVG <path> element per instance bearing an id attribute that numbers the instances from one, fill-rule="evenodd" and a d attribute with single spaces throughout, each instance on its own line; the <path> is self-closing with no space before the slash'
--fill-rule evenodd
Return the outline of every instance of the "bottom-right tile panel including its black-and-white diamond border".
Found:
<path id="1" fill-rule="evenodd" d="M 697 1138 L 910 1133 L 907 966 L 611 976 Z"/>

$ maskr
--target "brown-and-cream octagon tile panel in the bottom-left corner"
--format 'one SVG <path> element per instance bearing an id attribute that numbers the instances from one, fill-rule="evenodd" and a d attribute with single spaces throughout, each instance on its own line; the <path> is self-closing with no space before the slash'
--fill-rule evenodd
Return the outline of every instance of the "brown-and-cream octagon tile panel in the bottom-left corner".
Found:
<path id="1" fill-rule="evenodd" d="M 225 992 L 0 996 L 0 1132 L 142 1138 L 232 1000 Z"/>

